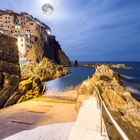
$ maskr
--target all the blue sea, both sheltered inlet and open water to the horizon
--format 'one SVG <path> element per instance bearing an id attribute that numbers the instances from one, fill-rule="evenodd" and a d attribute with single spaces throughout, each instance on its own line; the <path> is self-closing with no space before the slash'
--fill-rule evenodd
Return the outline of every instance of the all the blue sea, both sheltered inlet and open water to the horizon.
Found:
<path id="1" fill-rule="evenodd" d="M 79 64 L 125 64 L 133 69 L 122 70 L 114 69 L 120 75 L 121 81 L 126 88 L 132 93 L 132 96 L 140 101 L 140 62 L 95 62 L 80 61 Z M 47 91 L 63 92 L 78 87 L 84 80 L 88 79 L 95 73 L 95 68 L 70 67 L 71 74 L 46 82 Z"/>

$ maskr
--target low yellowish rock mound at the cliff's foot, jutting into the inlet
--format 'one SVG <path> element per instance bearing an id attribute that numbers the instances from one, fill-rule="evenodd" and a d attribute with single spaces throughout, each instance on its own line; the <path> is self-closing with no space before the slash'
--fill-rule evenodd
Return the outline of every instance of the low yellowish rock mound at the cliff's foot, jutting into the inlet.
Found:
<path id="1" fill-rule="evenodd" d="M 23 75 L 37 75 L 42 81 L 48 81 L 62 76 L 66 76 L 70 71 L 62 65 L 57 65 L 53 61 L 43 58 L 43 60 L 36 64 L 30 63 L 24 66 Z"/>

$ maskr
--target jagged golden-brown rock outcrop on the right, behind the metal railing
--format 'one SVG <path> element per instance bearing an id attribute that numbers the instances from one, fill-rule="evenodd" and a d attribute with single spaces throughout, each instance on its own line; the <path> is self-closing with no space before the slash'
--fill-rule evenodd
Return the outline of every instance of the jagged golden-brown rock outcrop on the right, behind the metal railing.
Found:
<path id="1" fill-rule="evenodd" d="M 123 86 L 119 74 L 109 66 L 98 66 L 93 77 L 83 82 L 78 90 L 76 108 L 79 109 L 84 99 L 95 96 L 95 87 L 123 131 L 130 139 L 139 140 L 140 103 Z M 109 137 L 114 140 L 121 139 L 105 112 L 103 115 Z"/>

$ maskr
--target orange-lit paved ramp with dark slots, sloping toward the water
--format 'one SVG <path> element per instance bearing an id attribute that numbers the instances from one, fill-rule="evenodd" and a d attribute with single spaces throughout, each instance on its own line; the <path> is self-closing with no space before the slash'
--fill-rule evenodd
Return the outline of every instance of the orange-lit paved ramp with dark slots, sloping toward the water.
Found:
<path id="1" fill-rule="evenodd" d="M 0 139 L 42 125 L 74 122 L 75 104 L 27 101 L 0 110 Z"/>

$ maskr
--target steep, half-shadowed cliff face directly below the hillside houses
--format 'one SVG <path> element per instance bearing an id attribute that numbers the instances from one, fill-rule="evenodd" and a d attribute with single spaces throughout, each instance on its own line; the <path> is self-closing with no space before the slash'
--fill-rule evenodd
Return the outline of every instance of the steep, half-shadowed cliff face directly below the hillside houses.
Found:
<path id="1" fill-rule="evenodd" d="M 70 66 L 69 58 L 63 52 L 55 37 L 50 35 L 46 38 L 43 34 L 40 34 L 36 44 L 27 52 L 26 58 L 32 62 L 40 62 L 44 57 L 57 64 Z"/>

